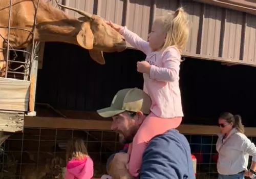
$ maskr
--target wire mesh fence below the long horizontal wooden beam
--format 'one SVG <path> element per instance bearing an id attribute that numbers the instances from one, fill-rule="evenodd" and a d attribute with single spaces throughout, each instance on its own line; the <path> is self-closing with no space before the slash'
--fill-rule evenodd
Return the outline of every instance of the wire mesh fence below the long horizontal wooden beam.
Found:
<path id="1" fill-rule="evenodd" d="M 217 136 L 185 136 L 197 158 L 197 178 L 218 178 Z M 109 156 L 123 148 L 113 131 L 25 128 L 24 133 L 11 135 L 2 146 L 0 178 L 61 178 L 61 168 L 66 165 L 65 147 L 72 137 L 84 140 L 94 161 L 95 177 L 106 173 Z M 250 139 L 256 141 L 256 137 Z"/>

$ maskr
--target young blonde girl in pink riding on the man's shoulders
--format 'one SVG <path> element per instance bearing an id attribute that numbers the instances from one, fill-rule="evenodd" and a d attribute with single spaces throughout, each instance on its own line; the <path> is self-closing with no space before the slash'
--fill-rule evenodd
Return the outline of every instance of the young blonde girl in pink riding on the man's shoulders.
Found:
<path id="1" fill-rule="evenodd" d="M 111 21 L 106 23 L 146 54 L 144 61 L 137 62 L 137 71 L 143 73 L 144 91 L 152 99 L 152 113 L 144 120 L 129 146 L 129 172 L 138 176 L 146 144 L 154 136 L 177 128 L 183 117 L 179 71 L 181 52 L 189 36 L 187 14 L 179 8 L 174 14 L 156 18 L 148 42 L 126 27 Z"/>

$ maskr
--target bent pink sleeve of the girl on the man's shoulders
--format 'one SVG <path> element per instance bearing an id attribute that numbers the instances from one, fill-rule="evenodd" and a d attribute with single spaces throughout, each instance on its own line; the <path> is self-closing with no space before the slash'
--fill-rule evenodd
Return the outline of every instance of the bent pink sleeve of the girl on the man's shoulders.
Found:
<path id="1" fill-rule="evenodd" d="M 181 55 L 175 47 L 169 48 L 163 56 L 163 67 L 151 65 L 150 78 L 173 82 L 179 78 Z"/>

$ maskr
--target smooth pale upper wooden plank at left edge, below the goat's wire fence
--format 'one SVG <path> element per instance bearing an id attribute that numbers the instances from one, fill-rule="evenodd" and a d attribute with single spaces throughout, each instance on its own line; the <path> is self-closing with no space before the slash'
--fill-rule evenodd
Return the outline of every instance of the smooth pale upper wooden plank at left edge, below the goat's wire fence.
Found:
<path id="1" fill-rule="evenodd" d="M 0 77 L 0 110 L 27 111 L 30 81 Z"/>

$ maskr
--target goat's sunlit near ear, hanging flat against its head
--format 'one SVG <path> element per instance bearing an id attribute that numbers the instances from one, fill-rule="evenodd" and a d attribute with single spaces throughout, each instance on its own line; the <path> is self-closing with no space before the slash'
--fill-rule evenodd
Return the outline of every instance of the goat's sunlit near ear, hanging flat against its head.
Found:
<path id="1" fill-rule="evenodd" d="M 76 40 L 82 48 L 88 50 L 93 49 L 94 36 L 91 30 L 90 22 L 82 23 L 81 30 L 76 35 Z"/>

